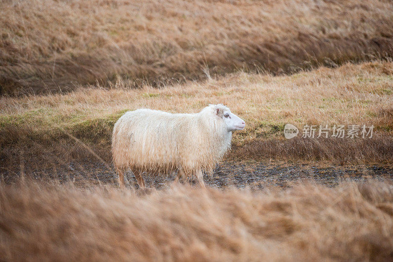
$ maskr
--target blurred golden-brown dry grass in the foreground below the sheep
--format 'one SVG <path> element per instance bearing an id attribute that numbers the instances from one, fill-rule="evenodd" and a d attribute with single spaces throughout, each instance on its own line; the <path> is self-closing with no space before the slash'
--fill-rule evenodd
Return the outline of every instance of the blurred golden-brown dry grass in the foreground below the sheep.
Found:
<path id="1" fill-rule="evenodd" d="M 0 190 L 5 261 L 391 261 L 393 184 Z"/>

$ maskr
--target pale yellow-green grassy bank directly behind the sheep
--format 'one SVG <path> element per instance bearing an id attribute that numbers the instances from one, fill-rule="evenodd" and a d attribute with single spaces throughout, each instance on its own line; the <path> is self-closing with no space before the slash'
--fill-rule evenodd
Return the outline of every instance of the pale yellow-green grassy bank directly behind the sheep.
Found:
<path id="1" fill-rule="evenodd" d="M 2 166 L 19 165 L 21 157 L 39 165 L 95 159 L 85 145 L 109 162 L 112 126 L 126 110 L 197 112 L 209 103 L 228 105 L 247 123 L 244 131 L 234 133 L 230 158 L 391 163 L 392 86 L 393 63 L 370 62 L 280 77 L 237 73 L 161 89 L 129 89 L 127 82 L 118 81 L 109 90 L 1 97 Z M 288 141 L 282 134 L 285 123 L 373 124 L 375 130 L 372 139 Z"/>

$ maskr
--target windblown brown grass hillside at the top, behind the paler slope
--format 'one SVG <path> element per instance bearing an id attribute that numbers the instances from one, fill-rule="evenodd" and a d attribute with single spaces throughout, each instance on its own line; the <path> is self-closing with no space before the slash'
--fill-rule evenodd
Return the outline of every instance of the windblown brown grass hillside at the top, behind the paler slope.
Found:
<path id="1" fill-rule="evenodd" d="M 384 0 L 4 0 L 0 10 L 7 94 L 393 56 L 393 3 Z"/>

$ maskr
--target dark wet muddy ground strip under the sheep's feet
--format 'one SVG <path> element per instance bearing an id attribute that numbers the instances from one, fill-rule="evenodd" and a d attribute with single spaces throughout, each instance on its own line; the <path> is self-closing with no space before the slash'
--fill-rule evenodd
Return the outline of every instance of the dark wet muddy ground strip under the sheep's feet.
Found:
<path id="1" fill-rule="evenodd" d="M 13 183 L 20 177 L 21 172 L 5 171 L 1 174 L 5 183 Z M 72 181 L 77 185 L 85 183 L 117 184 L 117 177 L 112 167 L 97 162 L 70 163 L 67 166 L 47 170 L 26 171 L 25 175 L 34 179 L 57 180 L 60 182 Z M 175 174 L 156 177 L 144 176 L 148 187 L 162 189 L 168 187 Z M 131 172 L 127 172 L 128 186 L 138 187 Z M 212 176 L 205 176 L 204 181 L 213 187 L 250 187 L 263 188 L 266 185 L 291 186 L 299 180 L 334 186 L 342 180 L 360 181 L 366 178 L 393 180 L 392 167 L 379 166 L 327 166 L 317 167 L 300 164 L 271 164 L 264 162 L 221 162 L 214 169 Z M 196 184 L 190 179 L 189 183 Z M 183 180 L 182 183 L 187 183 Z"/>

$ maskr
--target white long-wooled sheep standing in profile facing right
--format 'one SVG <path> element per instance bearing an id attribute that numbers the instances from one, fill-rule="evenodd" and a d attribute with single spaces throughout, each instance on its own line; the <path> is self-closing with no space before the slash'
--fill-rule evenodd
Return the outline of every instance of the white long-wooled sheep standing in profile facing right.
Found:
<path id="1" fill-rule="evenodd" d="M 128 167 L 141 188 L 141 174 L 178 170 L 175 182 L 183 175 L 195 175 L 204 187 L 202 170 L 211 173 L 230 148 L 232 131 L 243 130 L 245 123 L 225 105 L 209 105 L 195 114 L 172 114 L 159 110 L 128 111 L 114 124 L 113 164 L 124 187 Z"/>

